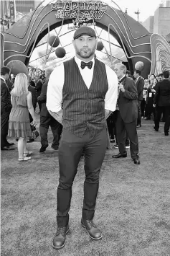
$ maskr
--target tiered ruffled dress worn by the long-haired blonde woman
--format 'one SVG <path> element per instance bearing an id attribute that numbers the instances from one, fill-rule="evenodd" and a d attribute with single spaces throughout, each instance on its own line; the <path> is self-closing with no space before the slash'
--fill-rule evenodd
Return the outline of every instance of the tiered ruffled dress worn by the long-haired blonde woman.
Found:
<path id="1" fill-rule="evenodd" d="M 30 92 L 29 92 L 30 93 Z M 29 122 L 27 95 L 11 95 L 12 109 L 9 115 L 9 136 L 27 138 L 32 136 Z"/>

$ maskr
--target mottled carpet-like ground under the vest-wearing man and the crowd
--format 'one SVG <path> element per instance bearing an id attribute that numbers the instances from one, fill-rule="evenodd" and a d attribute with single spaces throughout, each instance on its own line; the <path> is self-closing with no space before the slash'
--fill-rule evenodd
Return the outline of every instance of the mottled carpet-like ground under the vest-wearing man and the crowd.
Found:
<path id="1" fill-rule="evenodd" d="M 81 159 L 72 187 L 70 234 L 59 251 L 52 248 L 57 151 L 49 146 L 39 154 L 39 138 L 29 144 L 33 151 L 29 162 L 18 162 L 17 150 L 1 151 L 1 255 L 169 256 L 170 136 L 164 136 L 163 123 L 156 133 L 153 122 L 143 120 L 138 138 L 139 166 L 129 151 L 126 159 L 111 158 L 117 149 L 106 152 L 95 213 L 95 223 L 103 231 L 98 242 L 80 226 L 85 177 Z"/>

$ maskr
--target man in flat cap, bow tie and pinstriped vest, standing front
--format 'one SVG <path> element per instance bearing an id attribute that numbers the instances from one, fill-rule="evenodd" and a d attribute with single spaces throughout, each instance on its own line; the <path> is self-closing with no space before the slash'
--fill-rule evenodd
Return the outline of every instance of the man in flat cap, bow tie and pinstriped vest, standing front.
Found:
<path id="1" fill-rule="evenodd" d="M 75 58 L 52 71 L 47 88 L 47 109 L 63 125 L 59 146 L 57 233 L 53 239 L 55 249 L 65 246 L 72 183 L 82 152 L 85 157 L 85 182 L 81 224 L 91 239 L 102 238 L 100 230 L 93 223 L 93 216 L 100 168 L 108 141 L 106 118 L 115 111 L 118 96 L 115 72 L 94 58 L 98 43 L 95 30 L 91 27 L 78 28 L 72 43 Z"/>

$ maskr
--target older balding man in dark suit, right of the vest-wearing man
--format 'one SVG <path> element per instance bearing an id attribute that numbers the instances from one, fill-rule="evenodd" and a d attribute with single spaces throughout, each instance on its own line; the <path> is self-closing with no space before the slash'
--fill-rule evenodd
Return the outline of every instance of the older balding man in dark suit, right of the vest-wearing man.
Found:
<path id="1" fill-rule="evenodd" d="M 138 118 L 138 92 L 133 79 L 126 77 L 126 66 L 122 63 L 115 64 L 115 73 L 118 76 L 118 106 L 115 120 L 119 154 L 113 158 L 127 157 L 126 132 L 130 140 L 131 158 L 135 164 L 140 164 L 138 159 L 138 135 L 136 119 Z"/>

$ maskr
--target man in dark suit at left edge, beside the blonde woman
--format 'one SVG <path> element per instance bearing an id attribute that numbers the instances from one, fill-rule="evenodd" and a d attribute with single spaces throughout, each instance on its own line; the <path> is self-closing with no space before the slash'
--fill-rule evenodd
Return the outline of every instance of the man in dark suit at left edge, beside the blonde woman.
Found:
<path id="1" fill-rule="evenodd" d="M 1 150 L 12 150 L 6 139 L 9 129 L 9 114 L 11 112 L 11 95 L 6 80 L 9 79 L 11 69 L 4 66 L 1 68 Z"/>

